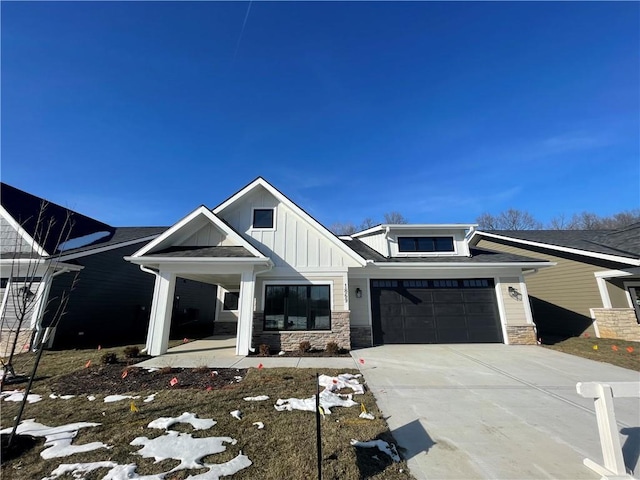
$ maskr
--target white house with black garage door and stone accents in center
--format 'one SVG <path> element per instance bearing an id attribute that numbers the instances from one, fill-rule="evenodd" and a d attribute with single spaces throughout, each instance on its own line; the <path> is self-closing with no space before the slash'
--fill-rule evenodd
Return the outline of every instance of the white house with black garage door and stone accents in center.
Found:
<path id="1" fill-rule="evenodd" d="M 335 342 L 536 343 L 524 276 L 553 264 L 473 247 L 471 224 L 337 237 L 263 178 L 196 208 L 126 260 L 155 280 L 147 350 L 167 350 L 176 286 L 216 287 L 211 333 L 294 350 Z"/>

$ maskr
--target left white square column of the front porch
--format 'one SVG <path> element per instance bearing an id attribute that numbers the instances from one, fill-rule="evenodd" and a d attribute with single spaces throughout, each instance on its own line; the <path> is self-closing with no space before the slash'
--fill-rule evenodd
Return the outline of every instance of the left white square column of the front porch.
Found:
<path id="1" fill-rule="evenodd" d="M 147 331 L 147 353 L 154 357 L 165 353 L 169 346 L 169 330 L 171 329 L 171 313 L 173 311 L 175 289 L 175 273 L 161 270 L 160 273 L 156 274 L 149 330 Z"/>

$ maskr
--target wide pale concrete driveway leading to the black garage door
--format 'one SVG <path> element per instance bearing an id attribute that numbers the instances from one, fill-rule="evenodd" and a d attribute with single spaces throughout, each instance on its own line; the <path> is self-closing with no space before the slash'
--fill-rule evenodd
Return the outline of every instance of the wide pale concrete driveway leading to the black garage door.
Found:
<path id="1" fill-rule="evenodd" d="M 418 479 L 598 479 L 593 400 L 577 382 L 637 372 L 537 346 L 385 345 L 352 352 Z M 361 359 L 361 360 L 360 360 Z M 615 400 L 627 467 L 640 473 L 640 401 Z"/>

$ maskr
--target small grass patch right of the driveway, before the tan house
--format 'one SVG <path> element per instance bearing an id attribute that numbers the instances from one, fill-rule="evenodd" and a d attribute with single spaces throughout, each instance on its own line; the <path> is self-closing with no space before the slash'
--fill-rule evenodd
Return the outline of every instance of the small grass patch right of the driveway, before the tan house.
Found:
<path id="1" fill-rule="evenodd" d="M 639 342 L 582 336 L 545 345 L 545 348 L 640 371 Z"/>

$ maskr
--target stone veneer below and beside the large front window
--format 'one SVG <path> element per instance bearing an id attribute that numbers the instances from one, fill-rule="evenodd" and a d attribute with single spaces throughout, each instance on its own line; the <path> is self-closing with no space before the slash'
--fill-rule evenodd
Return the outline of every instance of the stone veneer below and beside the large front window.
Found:
<path id="1" fill-rule="evenodd" d="M 261 344 L 269 345 L 272 351 L 298 350 L 300 342 L 308 341 L 311 348 L 324 350 L 329 342 L 336 342 L 338 347 L 351 349 L 351 328 L 349 312 L 331 312 L 331 330 L 304 330 L 265 332 L 264 312 L 253 313 L 253 347 Z"/>

